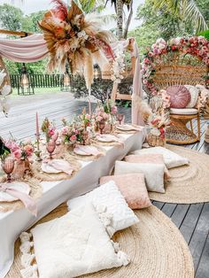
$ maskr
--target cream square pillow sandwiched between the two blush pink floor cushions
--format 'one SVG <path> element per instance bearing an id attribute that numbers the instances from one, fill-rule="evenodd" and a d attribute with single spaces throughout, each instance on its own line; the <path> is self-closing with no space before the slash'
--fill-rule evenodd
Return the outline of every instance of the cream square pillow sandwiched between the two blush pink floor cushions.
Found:
<path id="1" fill-rule="evenodd" d="M 114 174 L 143 173 L 148 191 L 165 193 L 164 170 L 165 166 L 163 164 L 116 161 Z"/>

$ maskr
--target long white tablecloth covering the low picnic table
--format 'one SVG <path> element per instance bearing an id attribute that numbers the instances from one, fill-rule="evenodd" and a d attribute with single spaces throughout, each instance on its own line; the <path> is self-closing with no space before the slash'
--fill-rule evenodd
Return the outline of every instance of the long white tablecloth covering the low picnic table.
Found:
<path id="1" fill-rule="evenodd" d="M 0 212 L 0 278 L 10 270 L 13 262 L 13 246 L 19 234 L 42 219 L 47 213 L 69 198 L 80 196 L 97 187 L 98 179 L 109 174 L 115 160 L 120 160 L 128 153 L 141 149 L 144 133 L 122 135 L 124 148 L 105 147 L 106 154 L 94 161 L 81 162 L 81 170 L 67 181 L 42 182 L 43 196 L 38 200 L 38 215 L 35 218 L 26 209 L 14 212 Z"/>

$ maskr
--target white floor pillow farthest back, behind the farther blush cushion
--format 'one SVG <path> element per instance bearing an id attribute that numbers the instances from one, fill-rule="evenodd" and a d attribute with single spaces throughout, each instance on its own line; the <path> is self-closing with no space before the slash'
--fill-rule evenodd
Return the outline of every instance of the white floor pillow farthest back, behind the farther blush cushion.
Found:
<path id="1" fill-rule="evenodd" d="M 137 155 L 145 154 L 145 153 L 162 154 L 166 167 L 168 169 L 190 163 L 188 158 L 183 158 L 180 155 L 178 155 L 177 153 L 174 153 L 174 151 L 167 150 L 166 148 L 163 148 L 163 147 L 153 147 L 153 148 L 134 151 L 134 154 L 137 154 Z"/>

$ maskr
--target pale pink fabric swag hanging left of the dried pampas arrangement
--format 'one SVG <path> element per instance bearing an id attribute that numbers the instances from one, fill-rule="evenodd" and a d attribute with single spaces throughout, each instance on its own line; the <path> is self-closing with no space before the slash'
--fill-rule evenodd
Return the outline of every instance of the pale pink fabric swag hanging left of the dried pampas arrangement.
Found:
<path id="1" fill-rule="evenodd" d="M 42 34 L 20 39 L 0 39 L 0 55 L 14 62 L 32 63 L 43 59 L 49 50 Z"/>

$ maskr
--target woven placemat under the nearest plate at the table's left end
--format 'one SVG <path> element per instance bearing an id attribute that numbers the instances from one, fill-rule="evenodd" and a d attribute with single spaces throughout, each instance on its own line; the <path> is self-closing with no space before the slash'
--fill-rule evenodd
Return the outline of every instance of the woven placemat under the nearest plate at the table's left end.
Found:
<path id="1" fill-rule="evenodd" d="M 39 181 L 34 178 L 29 178 L 28 180 L 19 180 L 20 182 L 25 182 L 30 187 L 29 196 L 37 200 L 43 194 L 43 188 Z M 0 212 L 17 211 L 20 208 L 25 207 L 21 201 L 13 202 L 0 202 Z"/>

